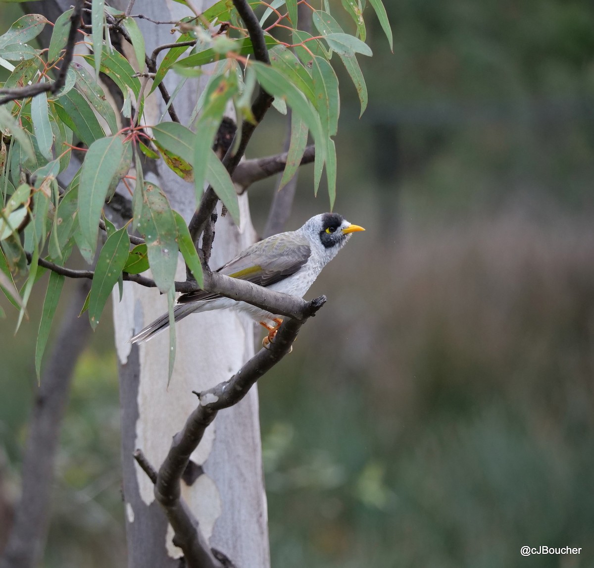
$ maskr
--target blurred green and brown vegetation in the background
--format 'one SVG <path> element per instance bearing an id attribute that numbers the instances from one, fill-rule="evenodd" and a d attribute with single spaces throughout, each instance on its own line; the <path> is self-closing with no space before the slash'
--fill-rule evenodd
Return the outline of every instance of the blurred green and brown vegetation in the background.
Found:
<path id="1" fill-rule="evenodd" d="M 335 209 L 367 231 L 260 381 L 273 566 L 594 566 L 594 5 L 386 8 L 394 54 L 369 18 L 361 119 L 337 69 Z M 248 156 L 276 152 L 284 129 L 267 116 Z M 327 209 L 311 174 L 290 229 Z M 250 189 L 260 230 L 273 184 Z M 39 309 L 16 337 L 14 315 L 0 321 L 4 503 Z M 111 337 L 106 319 L 78 364 L 48 567 L 125 566 Z M 522 545 L 582 553 L 524 558 Z"/>

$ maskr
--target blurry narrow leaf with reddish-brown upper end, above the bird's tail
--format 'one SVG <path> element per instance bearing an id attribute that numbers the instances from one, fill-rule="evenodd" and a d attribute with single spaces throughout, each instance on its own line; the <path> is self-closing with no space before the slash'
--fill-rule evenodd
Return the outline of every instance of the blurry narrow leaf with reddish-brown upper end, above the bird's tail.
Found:
<path id="1" fill-rule="evenodd" d="M 196 123 L 196 132 L 199 134 L 194 138 L 194 185 L 196 188 L 197 201 L 202 195 L 204 179 L 208 169 L 210 150 L 213 146 L 214 135 L 219 130 L 227 101 L 238 91 L 237 79 L 234 74 L 225 77 L 221 75 L 210 86 L 207 93 L 206 103 L 200 118 Z M 224 203 L 224 202 L 223 202 Z"/>

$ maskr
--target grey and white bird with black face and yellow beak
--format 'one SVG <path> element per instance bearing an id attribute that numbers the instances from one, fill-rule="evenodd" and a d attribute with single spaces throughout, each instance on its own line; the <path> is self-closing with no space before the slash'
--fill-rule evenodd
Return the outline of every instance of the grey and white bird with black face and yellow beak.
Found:
<path id="1" fill-rule="evenodd" d="M 217 272 L 248 280 L 276 292 L 304 296 L 321 270 L 345 246 L 351 233 L 365 231 L 352 225 L 338 213 L 321 213 L 311 217 L 301 229 L 269 236 L 239 253 Z M 236 301 L 219 294 L 198 290 L 177 299 L 175 321 L 187 315 L 229 308 L 247 313 L 268 330 L 264 345 L 273 339 L 282 323 L 278 314 Z M 163 314 L 130 340 L 142 343 L 169 327 L 169 314 Z"/>

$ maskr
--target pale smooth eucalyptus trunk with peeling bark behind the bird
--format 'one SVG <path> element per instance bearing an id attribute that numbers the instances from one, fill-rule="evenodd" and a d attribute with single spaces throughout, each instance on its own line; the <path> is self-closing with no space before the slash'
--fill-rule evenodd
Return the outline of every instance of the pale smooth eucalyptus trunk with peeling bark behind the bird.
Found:
<path id="1" fill-rule="evenodd" d="M 194 5 L 204 10 L 211 3 L 206 0 L 203 5 L 199 2 Z M 118 7 L 124 9 L 126 4 L 123 2 Z M 188 15 L 187 8 L 163 0 L 137 2 L 134 12 L 155 20 L 176 20 Z M 138 23 L 148 53 L 156 45 L 175 40 L 170 34 L 171 26 L 156 26 L 146 20 Z M 179 79 L 171 75 L 167 83 L 170 93 Z M 174 102 L 182 124 L 188 124 L 200 93 L 197 84 L 190 83 Z M 147 124 L 159 121 L 163 107 L 157 91 L 153 104 L 147 103 Z M 156 175 L 146 173 L 146 179 L 159 185 L 172 207 L 187 221 L 190 219 L 195 209 L 193 185 L 182 181 L 163 162 L 159 163 Z M 240 204 L 241 229 L 233 225 L 230 216 L 219 214 L 210 261 L 213 268 L 255 240 L 247 194 L 240 197 Z M 178 276 L 178 280 L 185 278 L 182 263 Z M 181 550 L 173 546 L 172 531 L 153 496 L 153 483 L 134 461 L 132 452 L 137 448 L 143 450 L 149 461 L 159 467 L 172 436 L 197 405 L 192 390 L 200 392 L 227 380 L 254 354 L 254 324 L 226 310 L 197 314 L 181 321 L 177 326 L 175 368 L 168 387 L 168 333 L 140 348 L 128 343 L 129 337 L 166 311 L 165 297 L 159 296 L 156 289 L 125 282 L 124 297 L 121 302 L 118 300 L 116 292 L 113 317 L 120 370 L 128 566 L 178 566 L 175 558 L 181 556 Z M 182 481 L 182 496 L 200 522 L 210 546 L 223 551 L 238 568 L 269 566 L 255 387 L 241 403 L 217 416 L 191 462 L 194 465 L 187 470 L 190 475 Z"/>

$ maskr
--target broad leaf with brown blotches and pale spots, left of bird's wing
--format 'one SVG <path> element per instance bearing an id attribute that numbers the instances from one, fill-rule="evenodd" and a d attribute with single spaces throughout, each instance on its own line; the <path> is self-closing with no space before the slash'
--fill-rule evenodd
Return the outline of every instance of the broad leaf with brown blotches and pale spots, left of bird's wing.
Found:
<path id="1" fill-rule="evenodd" d="M 142 197 L 138 230 L 147 244 L 154 282 L 165 294 L 173 286 L 178 266 L 175 216 L 165 194 L 156 185 L 144 182 Z"/>

